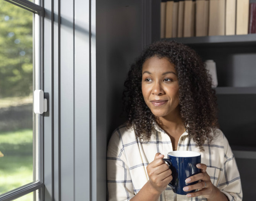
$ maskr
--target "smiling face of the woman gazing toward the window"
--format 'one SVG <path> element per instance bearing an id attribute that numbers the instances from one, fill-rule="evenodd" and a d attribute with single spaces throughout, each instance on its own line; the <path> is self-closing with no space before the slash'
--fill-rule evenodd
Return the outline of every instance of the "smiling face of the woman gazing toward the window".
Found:
<path id="1" fill-rule="evenodd" d="M 179 112 L 179 85 L 174 65 L 167 58 L 147 59 L 142 66 L 142 93 L 155 116 Z"/>

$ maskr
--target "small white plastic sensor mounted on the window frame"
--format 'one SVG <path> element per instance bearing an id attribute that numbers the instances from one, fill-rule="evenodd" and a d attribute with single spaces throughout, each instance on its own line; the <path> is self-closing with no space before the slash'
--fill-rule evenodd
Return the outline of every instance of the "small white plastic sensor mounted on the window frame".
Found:
<path id="1" fill-rule="evenodd" d="M 43 90 L 34 91 L 34 113 L 42 114 L 47 112 L 47 99 L 44 99 Z"/>

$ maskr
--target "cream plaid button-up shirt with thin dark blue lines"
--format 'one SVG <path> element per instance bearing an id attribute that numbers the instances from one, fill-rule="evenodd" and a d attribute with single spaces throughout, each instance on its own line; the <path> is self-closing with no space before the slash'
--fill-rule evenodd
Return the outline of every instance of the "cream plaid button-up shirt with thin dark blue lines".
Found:
<path id="1" fill-rule="evenodd" d="M 184 132 L 178 142 L 178 150 L 201 153 L 201 163 L 207 165 L 206 172 L 212 183 L 221 190 L 230 201 L 242 200 L 241 180 L 234 155 L 224 134 L 218 130 L 219 136 L 208 145 L 204 144 L 204 152 L 196 147 L 193 139 Z M 155 124 L 155 132 L 151 140 L 136 140 L 134 128 L 126 130 L 122 125 L 117 128 L 110 139 L 107 150 L 107 182 L 109 201 L 126 201 L 135 196 L 148 181 L 146 167 L 160 152 L 167 157 L 172 151 L 170 137 Z M 173 201 L 173 191 L 167 186 L 158 199 Z M 204 196 L 187 198 L 177 195 L 177 201 L 202 201 Z"/>

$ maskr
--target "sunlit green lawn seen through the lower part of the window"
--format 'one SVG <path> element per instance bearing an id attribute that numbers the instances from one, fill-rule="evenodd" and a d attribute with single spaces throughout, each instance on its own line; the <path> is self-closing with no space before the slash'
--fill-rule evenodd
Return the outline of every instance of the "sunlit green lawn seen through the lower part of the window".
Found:
<path id="1" fill-rule="evenodd" d="M 33 182 L 33 131 L 0 132 L 0 194 Z M 32 201 L 29 193 L 17 201 Z"/>

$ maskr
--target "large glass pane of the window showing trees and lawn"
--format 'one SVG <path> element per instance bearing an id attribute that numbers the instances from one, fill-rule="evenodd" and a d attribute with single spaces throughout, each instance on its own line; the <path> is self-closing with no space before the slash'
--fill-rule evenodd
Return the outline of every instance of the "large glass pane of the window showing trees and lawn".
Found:
<path id="1" fill-rule="evenodd" d="M 32 20 L 0 0 L 0 194 L 33 182 Z"/>

